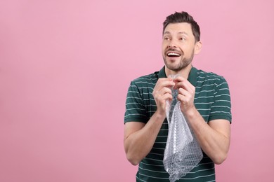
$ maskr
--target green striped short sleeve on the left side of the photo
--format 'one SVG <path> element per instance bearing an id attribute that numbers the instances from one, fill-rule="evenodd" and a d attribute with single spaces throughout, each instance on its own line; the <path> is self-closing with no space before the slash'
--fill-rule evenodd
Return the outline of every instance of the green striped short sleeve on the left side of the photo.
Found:
<path id="1" fill-rule="evenodd" d="M 124 114 L 124 123 L 130 121 L 146 123 L 147 118 L 145 106 L 143 104 L 143 93 L 140 92 L 140 89 L 136 83 L 132 81 L 126 95 L 126 112 Z"/>

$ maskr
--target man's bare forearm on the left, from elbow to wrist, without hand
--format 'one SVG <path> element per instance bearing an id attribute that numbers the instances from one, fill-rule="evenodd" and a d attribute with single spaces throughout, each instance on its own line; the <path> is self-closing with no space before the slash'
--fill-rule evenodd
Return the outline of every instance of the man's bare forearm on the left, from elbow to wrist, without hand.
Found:
<path id="1" fill-rule="evenodd" d="M 156 112 L 141 130 L 137 130 L 125 137 L 126 158 L 132 165 L 138 165 L 151 151 L 164 118 L 165 116 Z"/>

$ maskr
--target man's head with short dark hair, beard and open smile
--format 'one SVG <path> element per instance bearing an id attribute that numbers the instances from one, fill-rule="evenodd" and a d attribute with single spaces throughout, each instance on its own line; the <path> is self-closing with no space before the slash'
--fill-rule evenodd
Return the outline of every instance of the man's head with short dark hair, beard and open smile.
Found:
<path id="1" fill-rule="evenodd" d="M 189 71 L 194 55 L 197 55 L 201 48 L 200 27 L 192 16 L 185 12 L 176 12 L 167 17 L 162 39 L 162 56 L 168 69 L 166 71 Z"/>

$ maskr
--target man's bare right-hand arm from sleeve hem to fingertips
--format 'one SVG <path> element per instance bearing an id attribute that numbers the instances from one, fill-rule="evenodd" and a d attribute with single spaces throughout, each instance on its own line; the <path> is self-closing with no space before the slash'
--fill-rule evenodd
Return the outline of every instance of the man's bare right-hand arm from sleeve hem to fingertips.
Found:
<path id="1" fill-rule="evenodd" d="M 230 123 L 228 120 L 211 120 L 204 122 L 194 106 L 195 87 L 185 78 L 175 79 L 178 89 L 178 100 L 181 101 L 181 111 L 187 118 L 190 127 L 202 150 L 216 164 L 221 164 L 228 155 L 230 145 Z"/>

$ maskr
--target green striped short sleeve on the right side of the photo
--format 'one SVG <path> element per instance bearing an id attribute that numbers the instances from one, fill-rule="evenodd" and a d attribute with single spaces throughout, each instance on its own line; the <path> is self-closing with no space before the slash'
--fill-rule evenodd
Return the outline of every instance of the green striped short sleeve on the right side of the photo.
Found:
<path id="1" fill-rule="evenodd" d="M 225 78 L 221 77 L 215 85 L 214 103 L 209 113 L 209 121 L 224 119 L 229 120 L 231 123 L 231 101 L 228 83 Z"/>

